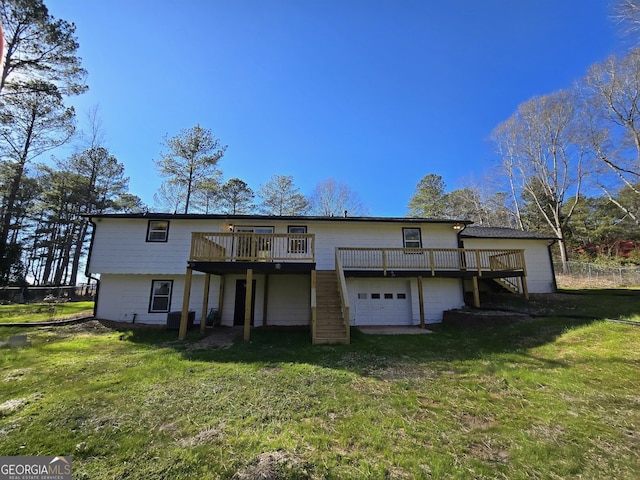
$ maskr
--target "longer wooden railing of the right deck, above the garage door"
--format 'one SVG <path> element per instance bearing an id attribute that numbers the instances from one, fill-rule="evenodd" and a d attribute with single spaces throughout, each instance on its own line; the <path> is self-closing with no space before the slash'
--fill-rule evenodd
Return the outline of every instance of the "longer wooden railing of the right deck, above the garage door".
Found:
<path id="1" fill-rule="evenodd" d="M 524 250 L 468 248 L 338 248 L 345 270 L 525 271 Z"/>

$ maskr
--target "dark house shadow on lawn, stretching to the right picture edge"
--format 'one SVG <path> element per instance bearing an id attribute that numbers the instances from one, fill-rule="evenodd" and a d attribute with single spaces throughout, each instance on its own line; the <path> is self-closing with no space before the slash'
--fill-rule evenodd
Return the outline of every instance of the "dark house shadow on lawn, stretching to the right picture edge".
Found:
<path id="1" fill-rule="evenodd" d="M 620 296 L 625 300 L 621 301 Z M 527 311 L 532 316 L 510 325 L 462 328 L 430 325 L 431 335 L 372 335 L 352 328 L 350 345 L 313 345 L 309 327 L 259 327 L 251 330 L 251 339 L 242 340 L 242 329 L 216 328 L 203 335 L 199 328 L 190 330 L 186 340 L 178 340 L 178 332 L 163 327 L 105 324 L 120 332 L 120 340 L 145 345 L 148 348 L 169 348 L 187 360 L 204 362 L 308 363 L 328 368 L 340 368 L 362 374 L 371 372 L 371 365 L 440 364 L 478 358 L 493 354 L 513 353 L 526 358 L 529 350 L 551 343 L 567 330 L 604 318 L 616 318 L 640 312 L 640 291 L 583 290 L 564 291 L 553 295 L 532 296 L 529 302 L 507 296 L 500 304 L 512 311 Z M 493 299 L 496 300 L 496 299 Z M 499 300 L 499 299 L 498 299 Z M 499 308 L 499 307 L 496 307 Z M 538 309 L 536 313 L 536 309 Z M 533 310 L 533 311 L 532 311 Z M 237 332 L 229 346 L 198 348 L 205 336 Z M 544 359 L 536 359 L 544 363 Z M 557 367 L 557 362 L 549 367 Z"/>

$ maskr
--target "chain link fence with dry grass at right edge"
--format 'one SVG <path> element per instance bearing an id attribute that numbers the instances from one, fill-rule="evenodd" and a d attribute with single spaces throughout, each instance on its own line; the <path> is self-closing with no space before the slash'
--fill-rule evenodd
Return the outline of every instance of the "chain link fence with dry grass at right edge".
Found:
<path id="1" fill-rule="evenodd" d="M 640 285 L 640 267 L 616 267 L 596 263 L 569 262 L 569 274 L 562 264 L 554 263 L 558 287 L 617 288 Z"/>

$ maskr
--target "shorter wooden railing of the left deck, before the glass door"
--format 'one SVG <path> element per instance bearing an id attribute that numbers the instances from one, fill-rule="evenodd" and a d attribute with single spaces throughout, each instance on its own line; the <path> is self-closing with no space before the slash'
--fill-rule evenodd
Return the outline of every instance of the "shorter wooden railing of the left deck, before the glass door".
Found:
<path id="1" fill-rule="evenodd" d="M 315 235 L 307 233 L 194 232 L 190 261 L 314 262 Z"/>

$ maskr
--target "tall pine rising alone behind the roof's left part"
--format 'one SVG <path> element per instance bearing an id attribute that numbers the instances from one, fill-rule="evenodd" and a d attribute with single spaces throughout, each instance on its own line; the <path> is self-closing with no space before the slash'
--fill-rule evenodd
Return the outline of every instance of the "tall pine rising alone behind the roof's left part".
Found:
<path id="1" fill-rule="evenodd" d="M 188 213 L 191 197 L 201 182 L 211 182 L 221 176 L 217 165 L 227 147 L 220 145 L 211 130 L 200 125 L 181 130 L 175 137 L 165 136 L 163 144 L 167 151 L 161 154 L 156 166 L 160 175 L 168 178 L 165 183 L 181 192 L 183 213 Z M 165 188 L 165 192 L 169 191 L 171 188 Z"/>

